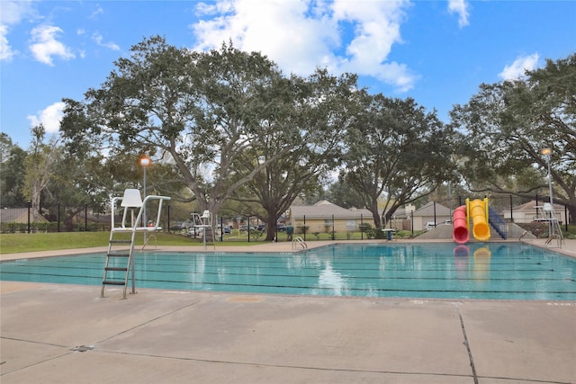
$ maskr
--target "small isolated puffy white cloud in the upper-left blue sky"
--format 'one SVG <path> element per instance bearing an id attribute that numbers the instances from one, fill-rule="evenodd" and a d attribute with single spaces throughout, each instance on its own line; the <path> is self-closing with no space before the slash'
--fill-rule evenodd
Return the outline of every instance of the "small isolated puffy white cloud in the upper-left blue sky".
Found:
<path id="1" fill-rule="evenodd" d="M 53 66 L 52 57 L 69 60 L 76 55 L 60 41 L 56 40 L 61 29 L 52 25 L 40 25 L 31 31 L 32 39 L 30 50 L 40 63 Z"/>

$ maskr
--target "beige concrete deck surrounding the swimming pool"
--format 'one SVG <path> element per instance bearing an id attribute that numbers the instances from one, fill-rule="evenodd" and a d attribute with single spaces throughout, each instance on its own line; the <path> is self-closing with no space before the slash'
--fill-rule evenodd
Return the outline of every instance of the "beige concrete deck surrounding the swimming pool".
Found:
<path id="1" fill-rule="evenodd" d="M 238 248 L 286 252 L 291 245 Z M 576 257 L 576 240 L 552 250 Z M 102 250 L 1 259 L 87 252 Z M 3 384 L 576 383 L 574 301 L 146 289 L 123 300 L 121 289 L 110 288 L 101 299 L 99 286 L 0 287 Z"/>

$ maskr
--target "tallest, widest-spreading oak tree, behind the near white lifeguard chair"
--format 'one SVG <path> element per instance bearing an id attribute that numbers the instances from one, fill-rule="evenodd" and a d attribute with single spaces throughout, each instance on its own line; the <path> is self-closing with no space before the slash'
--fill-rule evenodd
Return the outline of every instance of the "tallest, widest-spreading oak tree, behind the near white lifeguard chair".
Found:
<path id="1" fill-rule="evenodd" d="M 80 142 L 88 135 L 103 147 L 164 158 L 200 210 L 217 213 L 232 192 L 290 150 L 296 127 L 279 130 L 270 121 L 284 119 L 292 95 L 279 69 L 259 53 L 231 44 L 196 52 L 156 36 L 114 64 L 83 103 L 66 101 L 65 137 Z M 259 152 L 261 138 L 273 135 L 283 143 L 274 156 L 234 166 L 247 151 Z"/>

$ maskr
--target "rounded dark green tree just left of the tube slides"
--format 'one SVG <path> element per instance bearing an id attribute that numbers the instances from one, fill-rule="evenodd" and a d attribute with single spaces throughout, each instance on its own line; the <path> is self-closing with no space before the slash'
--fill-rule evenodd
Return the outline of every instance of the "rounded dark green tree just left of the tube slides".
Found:
<path id="1" fill-rule="evenodd" d="M 452 132 L 412 99 L 364 94 L 364 112 L 347 135 L 346 168 L 340 183 L 350 185 L 382 228 L 404 204 L 451 180 Z M 384 201 L 384 216 L 379 214 Z M 383 220 L 385 222 L 383 222 Z"/>

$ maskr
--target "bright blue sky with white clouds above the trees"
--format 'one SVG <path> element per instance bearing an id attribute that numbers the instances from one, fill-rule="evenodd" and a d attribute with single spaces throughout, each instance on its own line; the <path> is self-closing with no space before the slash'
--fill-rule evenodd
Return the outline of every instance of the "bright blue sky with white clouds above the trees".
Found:
<path id="1" fill-rule="evenodd" d="M 62 98 L 81 100 L 113 61 L 160 34 L 190 49 L 261 51 L 285 74 L 354 72 L 441 120 L 482 83 L 576 52 L 576 1 L 0 1 L 0 130 L 23 148 Z"/>

